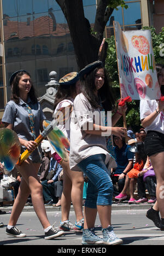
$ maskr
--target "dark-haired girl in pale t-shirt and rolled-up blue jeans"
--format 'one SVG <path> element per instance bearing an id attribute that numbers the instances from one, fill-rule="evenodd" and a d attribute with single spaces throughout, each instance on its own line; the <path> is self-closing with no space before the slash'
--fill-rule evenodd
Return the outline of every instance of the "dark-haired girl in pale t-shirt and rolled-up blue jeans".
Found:
<path id="1" fill-rule="evenodd" d="M 116 167 L 108 153 L 106 138 L 113 133 L 125 136 L 126 129 L 102 125 L 101 110 L 114 108 L 114 98 L 101 61 L 87 65 L 79 73 L 84 78 L 81 93 L 74 100 L 71 119 L 70 167 L 89 178 L 85 201 L 83 245 L 120 245 L 111 226 L 113 184 L 108 168 Z M 95 234 L 96 215 L 101 220 L 103 239 Z"/>

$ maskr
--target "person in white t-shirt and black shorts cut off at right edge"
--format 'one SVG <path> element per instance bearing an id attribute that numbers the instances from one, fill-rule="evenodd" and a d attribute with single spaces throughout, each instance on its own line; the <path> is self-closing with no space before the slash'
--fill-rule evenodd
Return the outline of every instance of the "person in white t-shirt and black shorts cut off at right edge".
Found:
<path id="1" fill-rule="evenodd" d="M 159 85 L 164 84 L 164 66 L 156 65 Z M 163 85 L 162 85 L 163 86 Z M 162 92 L 162 90 L 161 90 Z M 164 230 L 164 101 L 142 100 L 140 101 L 140 120 L 147 131 L 144 141 L 145 152 L 151 160 L 156 179 L 157 202 L 147 212 L 147 217 L 154 224 Z M 159 217 L 161 214 L 161 220 Z"/>

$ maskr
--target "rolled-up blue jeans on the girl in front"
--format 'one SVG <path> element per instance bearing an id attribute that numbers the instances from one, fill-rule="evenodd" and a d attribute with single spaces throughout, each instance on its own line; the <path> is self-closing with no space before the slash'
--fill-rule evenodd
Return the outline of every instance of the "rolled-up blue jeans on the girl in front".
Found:
<path id="1" fill-rule="evenodd" d="M 79 162 L 78 166 L 89 178 L 85 206 L 112 205 L 113 183 L 105 164 L 106 155 L 96 154 Z"/>

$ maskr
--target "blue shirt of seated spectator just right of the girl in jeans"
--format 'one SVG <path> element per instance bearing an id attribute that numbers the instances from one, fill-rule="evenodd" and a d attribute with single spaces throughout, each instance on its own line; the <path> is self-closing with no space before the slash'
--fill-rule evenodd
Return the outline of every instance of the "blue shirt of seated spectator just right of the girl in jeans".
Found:
<path id="1" fill-rule="evenodd" d="M 125 144 L 122 148 L 114 147 L 114 156 L 116 160 L 116 167 L 115 174 L 121 174 L 126 166 L 128 165 L 128 161 L 133 160 L 134 154 L 128 150 L 131 146 Z"/>

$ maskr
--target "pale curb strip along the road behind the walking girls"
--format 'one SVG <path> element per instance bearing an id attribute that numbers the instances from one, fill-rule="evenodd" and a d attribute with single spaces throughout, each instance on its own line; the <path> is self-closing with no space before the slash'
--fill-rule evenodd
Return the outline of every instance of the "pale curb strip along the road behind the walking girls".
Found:
<path id="1" fill-rule="evenodd" d="M 125 201 L 122 203 L 113 203 L 112 211 L 148 210 L 151 206 L 153 206 L 153 204 L 151 204 L 151 203 L 140 203 L 140 204 L 133 203 L 132 205 L 128 205 L 128 203 Z M 11 212 L 12 207 L 13 207 L 12 205 L 11 206 L 1 206 L 0 210 L 9 213 L 9 212 Z M 45 209 L 47 212 L 58 212 L 58 211 L 61 211 L 61 206 L 60 207 L 45 206 Z M 71 211 L 74 211 L 74 208 L 72 205 L 71 205 Z M 34 212 L 33 206 L 25 206 L 23 212 Z"/>

